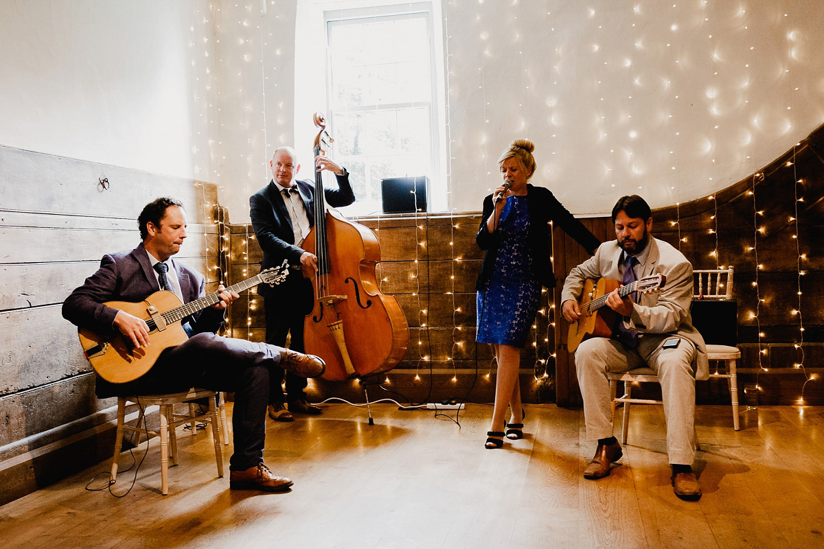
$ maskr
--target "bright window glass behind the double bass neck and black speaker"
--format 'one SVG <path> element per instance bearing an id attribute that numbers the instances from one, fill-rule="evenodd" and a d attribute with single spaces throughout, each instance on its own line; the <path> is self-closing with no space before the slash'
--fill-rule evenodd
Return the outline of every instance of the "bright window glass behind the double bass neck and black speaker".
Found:
<path id="1" fill-rule="evenodd" d="M 433 175 L 428 14 L 330 21 L 330 122 L 358 212 L 380 210 L 381 180 Z"/>

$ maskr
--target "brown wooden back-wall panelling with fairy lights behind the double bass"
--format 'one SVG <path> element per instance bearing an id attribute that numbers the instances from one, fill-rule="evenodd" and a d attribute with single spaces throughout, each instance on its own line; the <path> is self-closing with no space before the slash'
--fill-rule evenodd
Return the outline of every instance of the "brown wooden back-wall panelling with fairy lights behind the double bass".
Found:
<path id="1" fill-rule="evenodd" d="M 410 325 L 409 351 L 390 377 L 410 375 L 414 379 L 414 372 L 425 362 L 427 366 L 438 365 L 437 371 L 443 372 L 438 376 L 448 375 L 451 379 L 456 368 L 474 371 L 477 364 L 475 356 L 482 368 L 487 368 L 491 347 L 475 346 L 475 278 L 480 268 L 480 258 L 483 257 L 483 251 L 475 244 L 480 216 L 434 214 L 356 221 L 368 226 L 377 235 L 382 250 L 377 277 L 381 281 L 382 291 L 396 296 Z M 262 258 L 260 247 L 255 242 L 250 240 L 247 244 L 239 241 L 250 230 L 250 226 L 229 226 L 233 281 L 250 262 L 259 262 Z M 436 257 L 437 260 L 434 259 Z M 428 261 L 430 258 L 432 260 Z M 416 259 L 418 263 L 415 263 Z M 429 283 L 430 280 L 433 284 Z M 454 294 L 447 294 L 452 291 L 452 286 L 455 286 Z M 236 326 L 234 335 L 246 337 L 243 334 L 265 331 L 265 318 L 260 309 L 250 314 L 252 328 L 246 328 L 246 305 L 243 301 L 236 305 L 239 309 L 232 311 L 232 323 Z M 426 310 L 425 314 L 422 309 Z M 419 328 L 420 323 L 426 323 L 426 328 Z M 422 356 L 429 356 L 430 360 L 422 361 Z M 524 356 L 531 366 L 529 361 L 534 360 L 534 352 L 527 351 Z M 411 389 L 417 391 L 417 382 L 410 383 L 413 386 Z M 331 384 L 328 387 L 344 392 L 349 390 L 345 384 Z M 443 387 L 463 386 L 461 383 L 453 385 L 447 382 Z M 339 393 L 332 394 L 339 396 Z M 452 393 L 450 395 L 454 396 Z M 363 392 L 358 388 L 353 398 L 362 399 Z"/>

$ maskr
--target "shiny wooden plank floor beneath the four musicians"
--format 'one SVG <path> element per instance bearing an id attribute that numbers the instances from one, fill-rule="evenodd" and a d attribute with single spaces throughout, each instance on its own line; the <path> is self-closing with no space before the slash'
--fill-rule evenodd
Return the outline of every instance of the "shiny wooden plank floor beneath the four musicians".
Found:
<path id="1" fill-rule="evenodd" d="M 122 499 L 84 490 L 100 463 L 0 507 L 2 549 L 824 547 L 822 407 L 743 412 L 737 432 L 729 407 L 699 407 L 698 502 L 672 494 L 660 407 L 634 407 L 622 465 L 600 481 L 581 476 L 594 451 L 583 412 L 527 406 L 527 437 L 496 450 L 483 447 L 489 406 L 469 405 L 460 428 L 432 411 L 372 412 L 373 426 L 344 404 L 269 421 L 266 463 L 295 481 L 285 494 L 229 491 L 211 437 L 181 428 L 169 495 L 153 439 Z"/>

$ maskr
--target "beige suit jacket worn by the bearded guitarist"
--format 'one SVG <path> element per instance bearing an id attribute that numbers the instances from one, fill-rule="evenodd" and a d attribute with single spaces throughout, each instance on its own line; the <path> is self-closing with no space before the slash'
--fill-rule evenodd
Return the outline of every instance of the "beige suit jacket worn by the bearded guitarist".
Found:
<path id="1" fill-rule="evenodd" d="M 704 337 L 692 325 L 690 305 L 693 295 L 692 265 L 672 245 L 663 240 L 650 238 L 643 277 L 662 274 L 667 281 L 660 292 L 642 294 L 639 303 L 633 304 L 633 313 L 625 317 L 625 326 L 639 333 L 672 334 L 685 337 L 695 344 L 697 352 L 692 361 L 695 379 L 709 379 L 709 361 Z M 561 304 L 577 300 L 587 278 L 601 277 L 620 280 L 618 272 L 621 249 L 617 240 L 598 247 L 592 258 L 569 272 L 561 291 Z"/>

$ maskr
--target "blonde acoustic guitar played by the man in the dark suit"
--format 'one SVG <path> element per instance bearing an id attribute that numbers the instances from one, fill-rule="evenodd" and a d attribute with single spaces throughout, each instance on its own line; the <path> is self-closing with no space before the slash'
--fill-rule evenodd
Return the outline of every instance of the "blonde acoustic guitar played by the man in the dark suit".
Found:
<path id="1" fill-rule="evenodd" d="M 283 281 L 287 274 L 287 262 L 284 260 L 280 267 L 261 271 L 257 276 L 229 286 L 226 290 L 239 294 L 260 283 L 274 286 Z M 131 339 L 122 333 L 102 337 L 91 330 L 79 328 L 77 336 L 80 337 L 83 354 L 101 378 L 110 383 L 126 383 L 150 370 L 162 351 L 189 339 L 180 322 L 182 319 L 215 305 L 219 300 L 218 292 L 215 292 L 184 304 L 174 292 L 161 290 L 137 303 L 106 301 L 103 305 L 124 310 L 146 321 L 150 343 L 147 347 L 135 348 Z"/>

